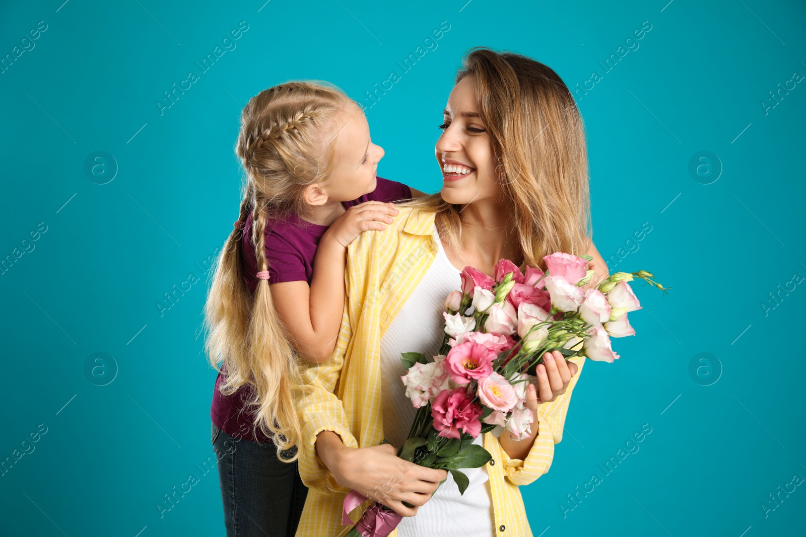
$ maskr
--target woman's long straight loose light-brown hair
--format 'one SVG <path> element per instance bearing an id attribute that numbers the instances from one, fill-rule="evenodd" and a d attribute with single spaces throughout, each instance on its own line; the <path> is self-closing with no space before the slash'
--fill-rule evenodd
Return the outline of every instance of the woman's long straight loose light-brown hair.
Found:
<path id="1" fill-rule="evenodd" d="M 567 86 L 536 60 L 486 47 L 467 52 L 455 82 L 466 76 L 473 77 L 501 189 L 512 200 L 524 262 L 545 270 L 545 255 L 586 254 L 592 233 L 588 152 Z M 460 205 L 439 193 L 400 205 L 434 210 L 441 234 L 458 246 Z"/>

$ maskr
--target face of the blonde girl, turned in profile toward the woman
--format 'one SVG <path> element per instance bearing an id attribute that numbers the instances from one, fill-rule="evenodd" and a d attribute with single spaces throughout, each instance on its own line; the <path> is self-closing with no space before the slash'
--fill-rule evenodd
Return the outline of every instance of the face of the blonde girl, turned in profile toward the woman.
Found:
<path id="1" fill-rule="evenodd" d="M 322 190 L 336 201 L 355 200 L 374 191 L 384 148 L 372 143 L 364 112 L 358 106 L 347 107 L 335 118 L 332 133 L 333 171 Z"/>

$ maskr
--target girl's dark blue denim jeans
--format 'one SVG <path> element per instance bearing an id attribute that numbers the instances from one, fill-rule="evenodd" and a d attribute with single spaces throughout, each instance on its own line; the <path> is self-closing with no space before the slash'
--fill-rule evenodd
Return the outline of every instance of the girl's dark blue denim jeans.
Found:
<path id="1" fill-rule="evenodd" d="M 308 489 L 297 461 L 277 459 L 274 444 L 212 429 L 227 537 L 293 537 Z"/>

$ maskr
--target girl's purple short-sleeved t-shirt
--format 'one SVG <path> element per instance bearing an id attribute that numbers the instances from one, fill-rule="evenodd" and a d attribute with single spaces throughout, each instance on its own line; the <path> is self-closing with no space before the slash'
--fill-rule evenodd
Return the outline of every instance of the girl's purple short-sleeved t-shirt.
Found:
<path id="1" fill-rule="evenodd" d="M 397 201 L 411 197 L 411 189 L 405 184 L 382 177 L 377 178 L 374 191 L 357 200 L 343 202 L 344 208 L 364 201 Z M 311 224 L 293 215 L 286 220 L 269 221 L 266 225 L 266 258 L 268 259 L 269 283 L 307 281 L 310 285 L 314 274 L 314 256 L 319 240 L 327 231 L 327 225 Z M 252 294 L 257 287 L 255 247 L 251 243 L 251 215 L 243 226 L 243 280 Z M 222 374 L 215 379 L 210 418 L 223 432 L 242 440 L 268 443 L 271 440 L 260 429 L 253 429 L 254 413 L 247 401 L 253 396 L 251 386 L 241 386 L 232 395 L 222 395 L 218 390 Z"/>

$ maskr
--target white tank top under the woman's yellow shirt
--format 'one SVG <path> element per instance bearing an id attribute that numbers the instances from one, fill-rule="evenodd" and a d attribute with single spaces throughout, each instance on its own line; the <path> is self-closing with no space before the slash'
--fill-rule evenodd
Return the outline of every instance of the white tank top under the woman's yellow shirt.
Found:
<path id="1" fill-rule="evenodd" d="M 401 381 L 405 374 L 401 353 L 423 353 L 429 360 L 438 353 L 445 323 L 442 317 L 445 299 L 448 293 L 462 287 L 461 271 L 451 264 L 442 249 L 436 226 L 434 238 L 439 245 L 434 262 L 380 341 L 384 438 L 398 449 L 409 434 L 416 411 L 411 399 L 405 396 L 405 386 Z M 482 444 L 481 435 L 476 437 L 474 444 Z M 420 507 L 413 517 L 403 518 L 397 526 L 398 537 L 494 537 L 487 467 L 461 471 L 470 480 L 464 494 L 459 494 L 456 482 L 448 473 L 447 481 L 439 486 L 426 505 Z"/>

